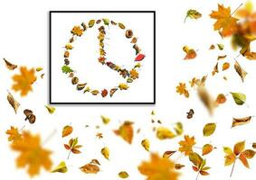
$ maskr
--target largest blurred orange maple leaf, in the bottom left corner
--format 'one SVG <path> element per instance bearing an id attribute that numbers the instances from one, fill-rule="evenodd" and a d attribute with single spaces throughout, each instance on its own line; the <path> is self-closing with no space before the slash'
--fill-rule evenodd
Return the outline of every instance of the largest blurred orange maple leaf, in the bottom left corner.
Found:
<path id="1" fill-rule="evenodd" d="M 39 135 L 33 136 L 30 132 L 24 131 L 23 139 L 14 141 L 11 148 L 20 152 L 16 158 L 16 166 L 27 166 L 27 173 L 30 176 L 38 175 L 41 166 L 46 170 L 51 169 L 52 160 L 49 156 L 52 152 L 42 148 Z"/>

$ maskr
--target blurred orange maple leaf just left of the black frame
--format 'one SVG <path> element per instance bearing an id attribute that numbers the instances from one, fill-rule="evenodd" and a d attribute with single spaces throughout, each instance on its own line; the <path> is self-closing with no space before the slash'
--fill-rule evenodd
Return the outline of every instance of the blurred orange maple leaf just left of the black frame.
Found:
<path id="1" fill-rule="evenodd" d="M 24 96 L 33 90 L 32 85 L 36 80 L 36 76 L 34 75 L 33 68 L 28 70 L 27 67 L 21 67 L 20 72 L 20 75 L 13 76 L 14 85 L 12 88 L 16 92 L 21 91 L 21 95 Z"/>

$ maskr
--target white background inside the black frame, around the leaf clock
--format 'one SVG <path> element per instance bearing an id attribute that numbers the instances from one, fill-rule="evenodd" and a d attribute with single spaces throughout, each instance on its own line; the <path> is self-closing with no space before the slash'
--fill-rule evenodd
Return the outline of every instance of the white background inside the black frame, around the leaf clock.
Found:
<path id="1" fill-rule="evenodd" d="M 65 44 L 71 38 L 71 29 L 74 25 L 88 24 L 91 19 L 108 18 L 117 23 L 124 23 L 126 30 L 131 29 L 137 37 L 137 45 L 146 58 L 141 61 L 139 77 L 128 84 L 128 91 L 117 91 L 112 97 L 107 95 L 94 96 L 83 94 L 71 85 L 71 78 L 62 73 L 64 64 L 63 54 Z M 70 50 L 70 67 L 75 70 L 75 76 L 80 83 L 88 83 L 92 90 L 110 90 L 126 83 L 126 79 L 119 76 L 117 71 L 108 66 L 102 66 L 98 58 L 100 25 L 84 31 L 81 37 L 76 38 Z M 106 38 L 104 49 L 107 52 L 106 61 L 111 61 L 120 67 L 132 69 L 137 62 L 135 49 L 130 43 L 131 39 L 125 37 L 125 30 L 119 26 L 105 26 Z M 65 86 L 65 88 L 63 88 Z M 153 103 L 154 102 L 154 14 L 146 13 L 52 13 L 52 103 Z"/>

